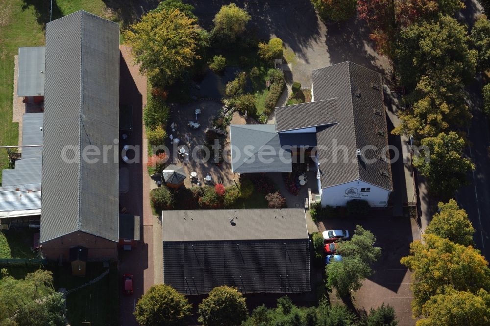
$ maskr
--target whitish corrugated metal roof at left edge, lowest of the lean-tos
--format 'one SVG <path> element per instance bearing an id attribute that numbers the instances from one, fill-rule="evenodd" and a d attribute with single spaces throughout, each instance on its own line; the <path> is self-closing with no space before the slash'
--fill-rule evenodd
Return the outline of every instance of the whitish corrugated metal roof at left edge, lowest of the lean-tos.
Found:
<path id="1" fill-rule="evenodd" d="M 0 218 L 37 215 L 41 210 L 41 184 L 0 187 Z"/>

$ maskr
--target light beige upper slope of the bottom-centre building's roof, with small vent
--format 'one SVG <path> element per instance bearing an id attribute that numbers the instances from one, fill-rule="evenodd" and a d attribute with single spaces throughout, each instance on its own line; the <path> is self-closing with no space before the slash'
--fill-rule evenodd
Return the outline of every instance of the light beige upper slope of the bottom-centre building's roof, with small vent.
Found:
<path id="1" fill-rule="evenodd" d="M 307 239 L 304 209 L 164 210 L 163 241 Z"/>

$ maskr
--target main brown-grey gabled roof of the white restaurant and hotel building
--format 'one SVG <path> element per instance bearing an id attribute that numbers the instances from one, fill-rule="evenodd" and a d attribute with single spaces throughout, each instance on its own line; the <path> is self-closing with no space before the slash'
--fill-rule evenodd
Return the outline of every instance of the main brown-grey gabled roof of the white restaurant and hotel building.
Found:
<path id="1" fill-rule="evenodd" d="M 388 145 L 381 74 L 346 61 L 313 70 L 312 78 L 315 101 L 334 97 L 339 100 L 339 123 L 317 130 L 321 186 L 363 180 L 392 191 L 390 163 L 380 159 L 381 150 Z M 334 140 L 347 148 L 345 162 L 342 151 L 338 152 L 337 163 L 332 162 Z M 374 163 L 365 163 L 356 155 L 356 149 L 367 145 L 377 148 L 363 153 L 365 159 L 375 159 Z"/>

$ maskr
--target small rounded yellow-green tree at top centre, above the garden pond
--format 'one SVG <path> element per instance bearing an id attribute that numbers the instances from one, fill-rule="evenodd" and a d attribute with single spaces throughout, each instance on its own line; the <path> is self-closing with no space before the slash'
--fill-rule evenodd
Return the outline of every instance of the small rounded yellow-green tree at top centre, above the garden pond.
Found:
<path id="1" fill-rule="evenodd" d="M 250 15 L 236 4 L 224 5 L 213 19 L 213 34 L 222 40 L 233 42 L 245 32 L 246 23 L 250 18 Z"/>

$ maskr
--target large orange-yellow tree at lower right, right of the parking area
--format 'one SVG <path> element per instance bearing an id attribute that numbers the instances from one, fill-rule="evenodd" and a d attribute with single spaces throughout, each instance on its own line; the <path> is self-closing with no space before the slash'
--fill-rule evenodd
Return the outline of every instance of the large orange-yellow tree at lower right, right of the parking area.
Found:
<path id="1" fill-rule="evenodd" d="M 488 262 L 471 246 L 463 246 L 435 234 L 424 234 L 424 243 L 410 244 L 410 255 L 400 262 L 412 271 L 412 311 L 423 312 L 423 305 L 449 286 L 473 294 L 490 287 Z"/>

